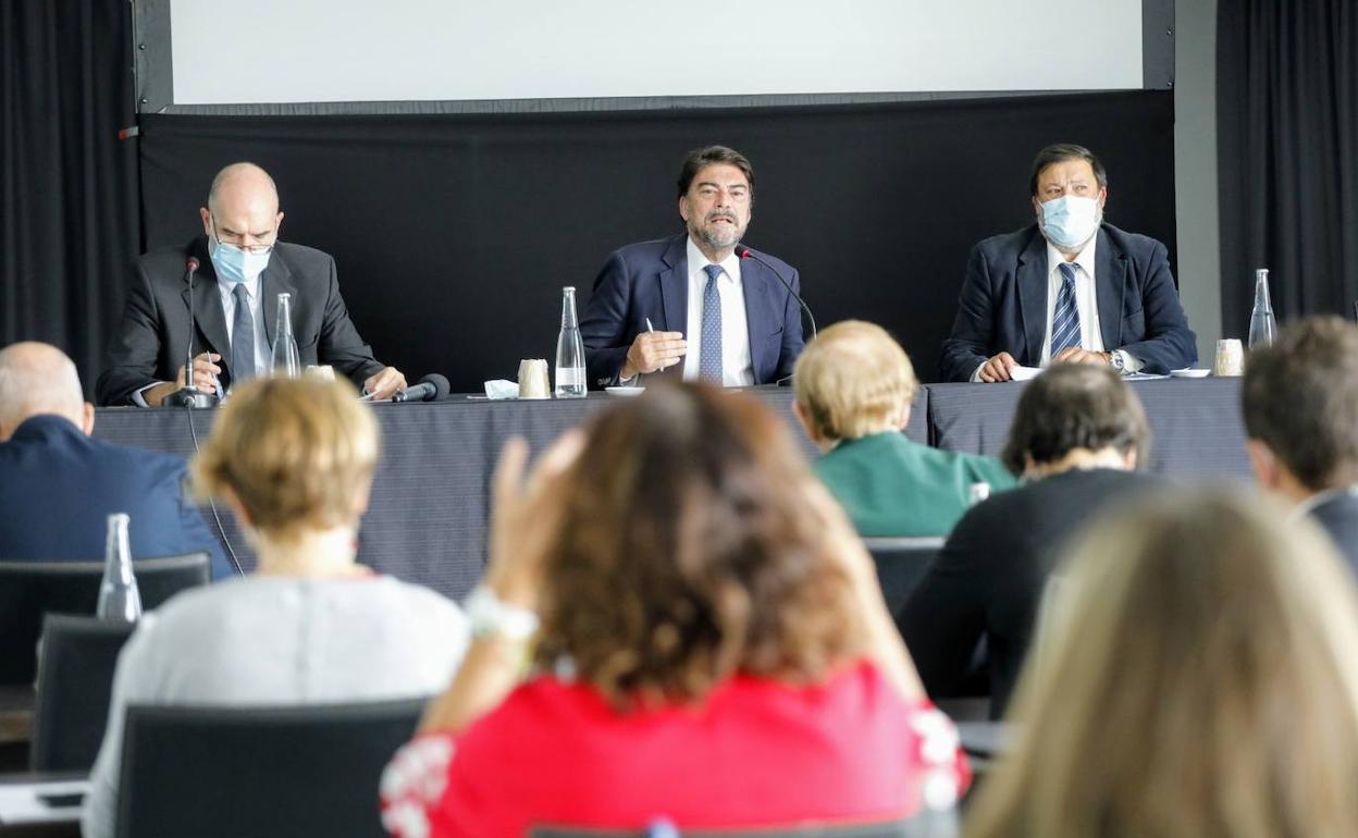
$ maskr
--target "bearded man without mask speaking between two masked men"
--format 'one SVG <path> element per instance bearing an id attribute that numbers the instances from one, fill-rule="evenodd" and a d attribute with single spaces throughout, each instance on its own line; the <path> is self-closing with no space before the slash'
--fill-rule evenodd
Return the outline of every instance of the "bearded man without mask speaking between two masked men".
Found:
<path id="1" fill-rule="evenodd" d="M 797 272 L 767 254 L 737 253 L 754 186 L 744 155 L 722 145 L 689 153 L 679 174 L 687 232 L 614 251 L 595 280 L 580 319 L 595 387 L 680 363 L 686 380 L 728 387 L 792 375 L 801 308 L 784 281 L 800 293 Z"/>

